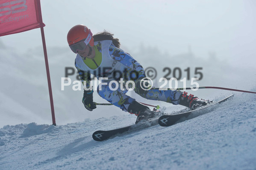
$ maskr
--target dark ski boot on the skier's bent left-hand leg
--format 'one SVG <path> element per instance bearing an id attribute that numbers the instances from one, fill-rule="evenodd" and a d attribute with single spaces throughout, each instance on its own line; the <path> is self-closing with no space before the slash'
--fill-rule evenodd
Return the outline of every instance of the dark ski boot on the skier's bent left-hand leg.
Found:
<path id="1" fill-rule="evenodd" d="M 135 121 L 135 124 L 137 124 L 141 120 L 148 120 L 150 118 L 156 117 L 158 115 L 157 112 L 154 112 L 150 110 L 147 106 L 138 103 L 137 101 L 133 101 L 129 107 L 128 112 L 131 114 L 135 114 L 137 116 L 137 119 Z"/>

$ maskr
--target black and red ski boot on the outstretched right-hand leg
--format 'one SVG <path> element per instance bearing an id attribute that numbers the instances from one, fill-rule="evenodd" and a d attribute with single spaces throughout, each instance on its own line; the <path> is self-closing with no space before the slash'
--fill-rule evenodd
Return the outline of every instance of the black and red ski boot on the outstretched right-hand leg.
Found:
<path id="1" fill-rule="evenodd" d="M 190 108 L 191 110 L 197 109 L 198 107 L 205 106 L 209 103 L 212 103 L 212 101 L 199 99 L 198 97 L 195 97 L 194 95 L 188 95 L 187 92 L 183 92 L 182 95 L 180 95 L 179 98 L 179 104 L 185 107 Z"/>

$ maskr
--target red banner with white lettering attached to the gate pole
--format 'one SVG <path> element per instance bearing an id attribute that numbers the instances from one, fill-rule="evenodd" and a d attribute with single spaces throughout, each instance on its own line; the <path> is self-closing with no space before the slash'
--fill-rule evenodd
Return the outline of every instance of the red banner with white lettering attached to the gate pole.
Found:
<path id="1" fill-rule="evenodd" d="M 43 26 L 40 0 L 0 0 L 0 36 Z"/>

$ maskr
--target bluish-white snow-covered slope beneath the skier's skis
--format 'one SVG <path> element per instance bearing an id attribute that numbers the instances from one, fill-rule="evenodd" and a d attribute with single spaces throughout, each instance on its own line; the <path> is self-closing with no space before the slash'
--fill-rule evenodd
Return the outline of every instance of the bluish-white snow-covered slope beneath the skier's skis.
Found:
<path id="1" fill-rule="evenodd" d="M 8 125 L 0 129 L 0 170 L 255 170 L 255 103 L 256 95 L 236 93 L 207 114 L 103 142 L 92 133 L 127 126 L 135 116 Z"/>

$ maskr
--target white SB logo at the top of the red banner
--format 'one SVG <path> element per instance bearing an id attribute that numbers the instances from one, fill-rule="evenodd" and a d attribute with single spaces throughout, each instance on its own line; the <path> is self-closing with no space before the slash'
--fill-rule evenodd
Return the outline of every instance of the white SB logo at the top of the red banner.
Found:
<path id="1" fill-rule="evenodd" d="M 17 3 L 21 3 L 18 5 L 15 5 Z M 11 6 L 11 7 L 6 7 L 6 6 Z M 24 8 L 21 8 L 24 7 Z M 18 12 L 24 12 L 27 10 L 27 6 L 26 6 L 26 0 L 14 0 L 14 1 L 10 1 L 7 3 L 1 3 L 0 4 L 0 17 L 9 15 L 9 14 L 15 14 Z M 1 13 L 3 12 L 3 13 Z"/>

